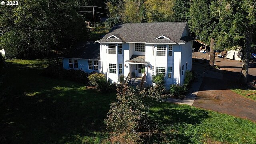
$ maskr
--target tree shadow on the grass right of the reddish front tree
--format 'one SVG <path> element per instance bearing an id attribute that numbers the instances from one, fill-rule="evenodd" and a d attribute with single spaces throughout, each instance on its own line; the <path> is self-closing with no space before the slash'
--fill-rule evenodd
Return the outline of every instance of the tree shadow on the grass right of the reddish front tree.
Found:
<path id="1" fill-rule="evenodd" d="M 149 113 L 151 141 L 155 143 L 191 143 L 184 134 L 185 125 L 200 124 L 210 117 L 206 110 L 166 102 L 156 104 Z M 144 140 L 148 141 L 148 135 Z"/>

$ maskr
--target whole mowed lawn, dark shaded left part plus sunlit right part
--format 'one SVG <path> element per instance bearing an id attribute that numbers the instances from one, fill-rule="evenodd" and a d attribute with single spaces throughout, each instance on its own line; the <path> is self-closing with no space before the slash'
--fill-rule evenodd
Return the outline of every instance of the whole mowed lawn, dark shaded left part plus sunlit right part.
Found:
<path id="1" fill-rule="evenodd" d="M 116 93 L 42 76 L 47 60 L 7 60 L 0 94 L 0 138 L 10 144 L 107 144 L 103 120 Z M 2 76 L 3 77 L 3 76 Z M 256 124 L 171 103 L 149 110 L 151 143 L 254 144 Z M 148 129 L 143 134 L 149 143 Z M 0 141 L 1 142 L 1 141 Z"/>

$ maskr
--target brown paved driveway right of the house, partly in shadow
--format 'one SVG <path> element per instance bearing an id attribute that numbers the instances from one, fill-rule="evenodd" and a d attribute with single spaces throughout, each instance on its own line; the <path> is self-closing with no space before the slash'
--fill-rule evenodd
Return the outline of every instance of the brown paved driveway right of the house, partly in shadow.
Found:
<path id="1" fill-rule="evenodd" d="M 247 118 L 256 122 L 256 102 L 240 96 L 230 90 L 236 84 L 241 62 L 216 59 L 220 70 L 208 68 L 208 64 L 193 63 L 192 69 L 197 73 L 204 72 L 203 82 L 193 106 Z M 256 68 L 252 64 L 249 69 L 250 79 L 255 78 Z"/>

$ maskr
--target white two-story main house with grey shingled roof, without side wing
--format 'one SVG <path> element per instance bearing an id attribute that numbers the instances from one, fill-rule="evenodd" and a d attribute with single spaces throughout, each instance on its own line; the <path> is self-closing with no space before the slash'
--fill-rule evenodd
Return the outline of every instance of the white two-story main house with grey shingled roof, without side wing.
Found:
<path id="1" fill-rule="evenodd" d="M 165 74 L 170 84 L 183 84 L 186 70 L 192 66 L 192 41 L 187 22 L 116 24 L 100 43 L 100 72 L 118 83 L 118 77 L 145 68 L 147 86 L 152 76 Z"/>

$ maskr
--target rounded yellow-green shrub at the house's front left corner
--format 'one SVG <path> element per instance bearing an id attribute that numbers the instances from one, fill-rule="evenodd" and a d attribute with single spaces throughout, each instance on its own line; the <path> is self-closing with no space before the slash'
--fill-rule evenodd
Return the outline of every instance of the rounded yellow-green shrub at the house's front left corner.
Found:
<path id="1" fill-rule="evenodd" d="M 114 92 L 116 91 L 116 85 L 112 84 L 109 80 L 106 79 L 104 74 L 90 74 L 88 77 L 90 84 L 96 86 L 100 92 Z"/>

